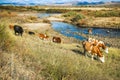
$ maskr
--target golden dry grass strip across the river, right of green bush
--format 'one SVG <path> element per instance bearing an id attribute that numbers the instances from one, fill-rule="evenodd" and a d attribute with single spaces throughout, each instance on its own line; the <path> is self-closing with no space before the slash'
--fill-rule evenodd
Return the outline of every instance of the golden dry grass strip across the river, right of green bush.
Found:
<path id="1" fill-rule="evenodd" d="M 102 17 L 94 18 L 91 21 L 88 21 L 87 25 L 89 26 L 100 26 L 108 28 L 120 28 L 120 18 L 119 17 Z"/>

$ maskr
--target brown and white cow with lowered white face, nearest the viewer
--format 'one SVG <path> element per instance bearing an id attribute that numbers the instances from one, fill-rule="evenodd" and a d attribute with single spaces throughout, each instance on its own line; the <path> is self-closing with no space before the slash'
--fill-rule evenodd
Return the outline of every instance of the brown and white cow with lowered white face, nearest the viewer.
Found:
<path id="1" fill-rule="evenodd" d="M 100 59 L 101 62 L 103 63 L 105 62 L 104 55 L 102 54 L 102 52 L 97 46 L 93 45 L 91 42 L 88 42 L 88 41 L 83 41 L 82 45 L 84 48 L 85 56 L 87 56 L 86 52 L 88 52 L 91 54 L 92 60 L 93 60 L 93 57 L 97 55 L 97 57 Z"/>

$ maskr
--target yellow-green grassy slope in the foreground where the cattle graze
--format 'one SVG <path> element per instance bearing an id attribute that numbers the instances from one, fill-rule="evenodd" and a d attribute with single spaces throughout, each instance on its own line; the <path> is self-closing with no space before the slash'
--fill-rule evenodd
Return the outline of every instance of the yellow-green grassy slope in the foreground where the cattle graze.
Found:
<path id="1" fill-rule="evenodd" d="M 18 17 L 17 13 L 0 19 L 0 80 L 119 80 L 120 49 L 109 47 L 105 63 L 83 55 L 82 43 L 65 37 L 51 28 L 53 35 L 62 37 L 61 44 L 41 40 L 36 35 L 15 36 L 10 23 L 44 22 L 36 18 Z M 45 21 L 46 22 L 46 21 Z M 39 32 L 39 31 L 35 31 Z"/>

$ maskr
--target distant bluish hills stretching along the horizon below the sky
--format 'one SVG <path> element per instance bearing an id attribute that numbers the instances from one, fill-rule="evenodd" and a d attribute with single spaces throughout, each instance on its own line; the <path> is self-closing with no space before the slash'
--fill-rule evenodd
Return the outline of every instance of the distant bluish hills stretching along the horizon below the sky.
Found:
<path id="1" fill-rule="evenodd" d="M 86 5 L 120 5 L 120 1 L 110 1 L 110 2 L 81 2 L 81 1 L 72 1 L 72 2 L 61 2 L 61 3 L 0 3 L 2 6 L 13 5 L 13 6 L 35 6 L 35 5 L 52 5 L 52 6 L 86 6 Z"/>

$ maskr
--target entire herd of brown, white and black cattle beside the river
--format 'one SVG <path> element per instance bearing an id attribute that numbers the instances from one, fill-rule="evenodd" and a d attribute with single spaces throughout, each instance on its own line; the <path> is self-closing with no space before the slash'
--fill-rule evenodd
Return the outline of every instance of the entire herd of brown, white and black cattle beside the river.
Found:
<path id="1" fill-rule="evenodd" d="M 15 35 L 22 36 L 22 34 L 24 32 L 23 28 L 19 25 L 9 25 L 9 28 L 14 29 Z M 88 33 L 92 34 L 92 30 L 88 29 Z M 32 31 L 28 31 L 28 34 L 35 35 L 35 33 Z M 42 34 L 42 33 L 38 33 L 37 36 L 42 40 L 49 38 L 49 36 L 47 36 L 46 34 Z M 54 36 L 52 38 L 52 42 L 61 43 L 61 38 Z M 103 50 L 105 50 L 106 53 L 108 53 L 108 48 L 106 47 L 106 45 L 103 41 L 99 41 L 99 40 L 96 40 L 93 38 L 88 38 L 88 40 L 82 42 L 82 45 L 83 45 L 85 56 L 87 56 L 87 53 L 89 53 L 91 55 L 92 60 L 95 56 L 97 56 L 97 58 L 101 62 L 105 62 L 104 55 L 101 51 L 101 48 Z"/>

